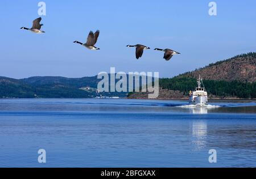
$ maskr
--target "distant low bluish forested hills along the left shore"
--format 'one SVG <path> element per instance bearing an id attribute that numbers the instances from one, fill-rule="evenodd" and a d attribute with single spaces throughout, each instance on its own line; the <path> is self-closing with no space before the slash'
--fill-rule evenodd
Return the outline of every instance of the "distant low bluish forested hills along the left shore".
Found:
<path id="1" fill-rule="evenodd" d="M 126 97 L 126 92 L 97 92 L 101 79 L 97 76 L 65 78 L 61 76 L 34 76 L 13 79 L 0 76 L 0 98 L 91 98 L 100 96 Z"/>

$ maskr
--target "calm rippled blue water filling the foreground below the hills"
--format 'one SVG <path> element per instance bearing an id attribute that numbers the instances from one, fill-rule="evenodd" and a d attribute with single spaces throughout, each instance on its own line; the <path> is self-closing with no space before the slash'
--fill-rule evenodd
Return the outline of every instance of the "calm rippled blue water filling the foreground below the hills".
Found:
<path id="1" fill-rule="evenodd" d="M 255 101 L 186 104 L 0 99 L 0 167 L 256 167 Z"/>

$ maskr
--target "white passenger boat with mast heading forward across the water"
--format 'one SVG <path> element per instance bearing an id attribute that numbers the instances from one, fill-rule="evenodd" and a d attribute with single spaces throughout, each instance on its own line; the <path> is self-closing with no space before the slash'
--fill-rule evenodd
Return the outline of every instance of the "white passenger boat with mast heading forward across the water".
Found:
<path id="1" fill-rule="evenodd" d="M 203 84 L 203 87 L 201 87 Z M 208 103 L 207 91 L 205 90 L 203 78 L 199 75 L 195 91 L 189 92 L 189 105 L 205 106 Z"/>

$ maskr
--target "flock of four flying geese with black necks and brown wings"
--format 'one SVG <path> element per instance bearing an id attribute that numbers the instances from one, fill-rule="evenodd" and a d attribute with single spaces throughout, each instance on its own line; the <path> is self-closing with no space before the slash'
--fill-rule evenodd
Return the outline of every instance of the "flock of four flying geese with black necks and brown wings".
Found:
<path id="1" fill-rule="evenodd" d="M 31 28 L 26 28 L 26 27 L 22 27 L 20 29 L 26 29 L 28 31 L 34 32 L 34 33 L 45 33 L 44 31 L 41 30 L 41 27 L 43 26 L 43 24 L 40 24 L 42 18 L 37 18 L 33 21 L 33 25 Z M 89 35 L 87 37 L 87 41 L 83 44 L 82 42 L 79 41 L 74 41 L 74 43 L 76 44 L 80 44 L 82 46 L 85 46 L 86 48 L 90 49 L 90 50 L 100 50 L 100 48 L 97 48 L 95 46 L 97 40 L 98 40 L 98 36 L 100 36 L 100 31 L 96 31 L 95 33 L 93 33 L 92 31 L 89 32 Z M 127 47 L 135 47 L 136 48 L 136 58 L 139 59 L 142 57 L 143 51 L 150 49 L 148 46 L 144 46 L 141 44 L 137 44 L 137 45 L 127 45 Z M 159 48 L 155 48 L 154 50 L 160 50 L 164 52 L 164 59 L 166 59 L 166 61 L 169 61 L 172 56 L 174 56 L 175 54 L 180 54 L 179 52 L 176 52 L 172 49 L 159 49 Z"/>

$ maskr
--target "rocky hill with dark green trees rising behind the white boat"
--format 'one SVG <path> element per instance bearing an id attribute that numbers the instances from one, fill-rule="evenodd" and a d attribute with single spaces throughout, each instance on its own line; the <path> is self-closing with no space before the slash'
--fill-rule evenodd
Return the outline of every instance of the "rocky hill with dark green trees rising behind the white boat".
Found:
<path id="1" fill-rule="evenodd" d="M 201 69 L 159 80 L 160 99 L 187 98 L 201 75 L 209 99 L 256 99 L 256 53 L 212 63 Z M 147 93 L 129 93 L 129 98 L 147 98 Z"/>

